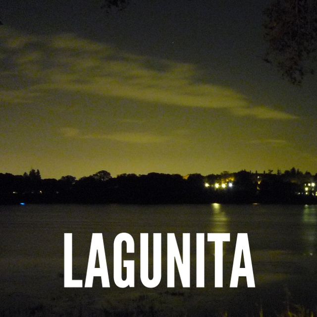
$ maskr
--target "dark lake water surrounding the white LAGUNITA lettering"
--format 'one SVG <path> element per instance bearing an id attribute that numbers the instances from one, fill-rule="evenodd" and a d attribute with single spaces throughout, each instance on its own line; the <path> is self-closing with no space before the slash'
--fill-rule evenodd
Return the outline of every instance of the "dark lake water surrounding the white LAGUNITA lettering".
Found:
<path id="1" fill-rule="evenodd" d="M 135 261 L 134 288 L 120 289 L 112 278 L 113 240 L 122 232 L 135 241 L 135 254 L 123 254 Z M 230 233 L 230 242 L 223 244 L 223 288 L 215 288 L 214 244 L 207 233 L 222 232 Z M 84 283 L 92 233 L 103 233 L 110 288 L 102 288 L 98 277 L 90 289 L 63 287 L 64 233 L 73 234 L 73 278 Z M 162 278 L 153 289 L 140 281 L 140 233 L 162 234 Z M 182 287 L 178 273 L 176 287 L 167 288 L 167 233 L 175 233 L 180 250 L 182 233 L 191 234 L 190 288 Z M 204 288 L 196 288 L 196 233 L 205 233 Z M 248 288 L 244 277 L 237 288 L 229 287 L 237 233 L 248 233 L 256 288 Z M 152 239 L 149 245 L 152 265 Z M 285 301 L 314 309 L 316 260 L 317 206 L 0 206 L 0 316 L 221 316 L 226 311 L 247 316 L 261 307 L 268 316 Z"/>

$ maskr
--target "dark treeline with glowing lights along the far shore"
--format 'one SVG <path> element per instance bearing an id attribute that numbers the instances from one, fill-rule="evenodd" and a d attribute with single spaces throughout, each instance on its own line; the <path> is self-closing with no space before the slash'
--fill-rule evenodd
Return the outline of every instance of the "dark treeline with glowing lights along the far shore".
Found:
<path id="1" fill-rule="evenodd" d="M 78 180 L 71 175 L 42 179 L 39 170 L 0 173 L 0 204 L 19 203 L 317 203 L 317 174 L 294 167 L 283 173 L 241 170 L 221 174 L 149 173 L 111 177 L 106 170 Z"/>

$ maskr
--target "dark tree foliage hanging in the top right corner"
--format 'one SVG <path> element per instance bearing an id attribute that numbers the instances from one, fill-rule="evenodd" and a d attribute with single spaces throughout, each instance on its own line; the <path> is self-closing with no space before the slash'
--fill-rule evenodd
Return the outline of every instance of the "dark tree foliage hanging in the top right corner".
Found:
<path id="1" fill-rule="evenodd" d="M 267 51 L 264 60 L 275 65 L 293 84 L 314 74 L 317 53 L 317 1 L 274 0 L 264 10 Z"/>

